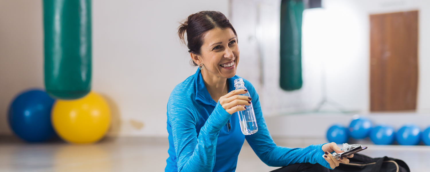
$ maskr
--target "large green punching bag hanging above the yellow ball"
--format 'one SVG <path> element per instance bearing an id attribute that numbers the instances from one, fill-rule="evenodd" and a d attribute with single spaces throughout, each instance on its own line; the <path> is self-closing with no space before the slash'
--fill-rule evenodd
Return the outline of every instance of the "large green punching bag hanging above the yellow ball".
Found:
<path id="1" fill-rule="evenodd" d="M 54 98 L 91 90 L 91 0 L 43 0 L 45 86 Z"/>

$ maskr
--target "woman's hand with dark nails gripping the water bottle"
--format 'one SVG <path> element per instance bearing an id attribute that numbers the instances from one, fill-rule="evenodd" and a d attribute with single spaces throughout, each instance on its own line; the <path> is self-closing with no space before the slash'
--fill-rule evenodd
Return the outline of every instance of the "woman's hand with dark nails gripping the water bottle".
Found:
<path id="1" fill-rule="evenodd" d="M 249 106 L 251 104 L 251 98 L 245 95 L 248 92 L 246 89 L 236 89 L 229 93 L 227 93 L 224 96 L 221 96 L 219 98 L 219 104 L 227 111 L 230 115 L 237 112 L 237 111 L 243 111 L 246 109 L 245 106 L 238 106 L 238 105 L 246 105 Z"/>

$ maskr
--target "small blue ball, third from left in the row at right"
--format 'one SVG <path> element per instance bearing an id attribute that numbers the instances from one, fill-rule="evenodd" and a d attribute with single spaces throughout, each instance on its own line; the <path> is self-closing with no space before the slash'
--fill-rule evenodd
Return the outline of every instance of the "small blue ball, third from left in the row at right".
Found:
<path id="1" fill-rule="evenodd" d="M 376 126 L 370 132 L 370 140 L 375 144 L 393 144 L 394 142 L 394 128 L 392 126 Z"/>

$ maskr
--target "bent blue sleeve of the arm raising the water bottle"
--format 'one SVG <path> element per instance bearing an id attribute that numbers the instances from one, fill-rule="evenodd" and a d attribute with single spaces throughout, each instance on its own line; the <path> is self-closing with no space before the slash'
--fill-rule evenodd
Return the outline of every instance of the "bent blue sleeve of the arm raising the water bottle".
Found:
<path id="1" fill-rule="evenodd" d="M 212 172 L 218 134 L 231 115 L 218 102 L 197 137 L 197 117 L 191 113 L 195 107 L 183 102 L 169 100 L 167 116 L 172 126 L 178 172 Z"/>

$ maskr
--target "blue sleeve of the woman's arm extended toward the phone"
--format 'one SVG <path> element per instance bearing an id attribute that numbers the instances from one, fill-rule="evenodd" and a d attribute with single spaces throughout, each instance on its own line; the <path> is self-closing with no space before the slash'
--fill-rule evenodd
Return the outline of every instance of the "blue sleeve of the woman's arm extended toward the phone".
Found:
<path id="1" fill-rule="evenodd" d="M 261 161 L 268 166 L 288 166 L 295 163 L 319 163 L 331 169 L 330 164 L 322 157 L 324 154 L 324 151 L 322 151 L 323 144 L 310 145 L 304 148 L 276 146 L 267 130 L 257 92 L 255 92 L 251 83 L 246 85 L 246 88 L 251 94 L 258 132 L 252 135 L 246 135 L 245 138 Z"/>

